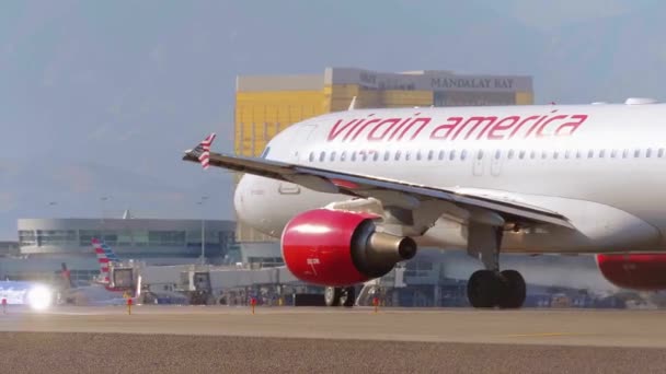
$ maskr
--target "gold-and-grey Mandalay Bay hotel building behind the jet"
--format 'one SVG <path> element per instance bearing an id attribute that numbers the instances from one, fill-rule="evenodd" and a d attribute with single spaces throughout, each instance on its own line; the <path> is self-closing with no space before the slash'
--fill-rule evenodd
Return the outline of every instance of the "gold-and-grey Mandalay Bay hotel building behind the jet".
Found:
<path id="1" fill-rule="evenodd" d="M 377 72 L 326 68 L 323 74 L 237 78 L 234 152 L 259 156 L 280 130 L 301 120 L 356 108 L 533 104 L 526 75 L 469 75 L 450 71 Z M 272 241 L 238 223 L 240 242 Z"/>

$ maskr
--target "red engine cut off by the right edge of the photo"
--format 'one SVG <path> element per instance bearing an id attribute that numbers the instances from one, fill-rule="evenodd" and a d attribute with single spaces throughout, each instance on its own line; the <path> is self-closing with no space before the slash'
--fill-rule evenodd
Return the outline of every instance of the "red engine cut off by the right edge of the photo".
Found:
<path id="1" fill-rule="evenodd" d="M 631 290 L 666 289 L 666 254 L 597 255 L 601 274 L 612 284 Z"/>

